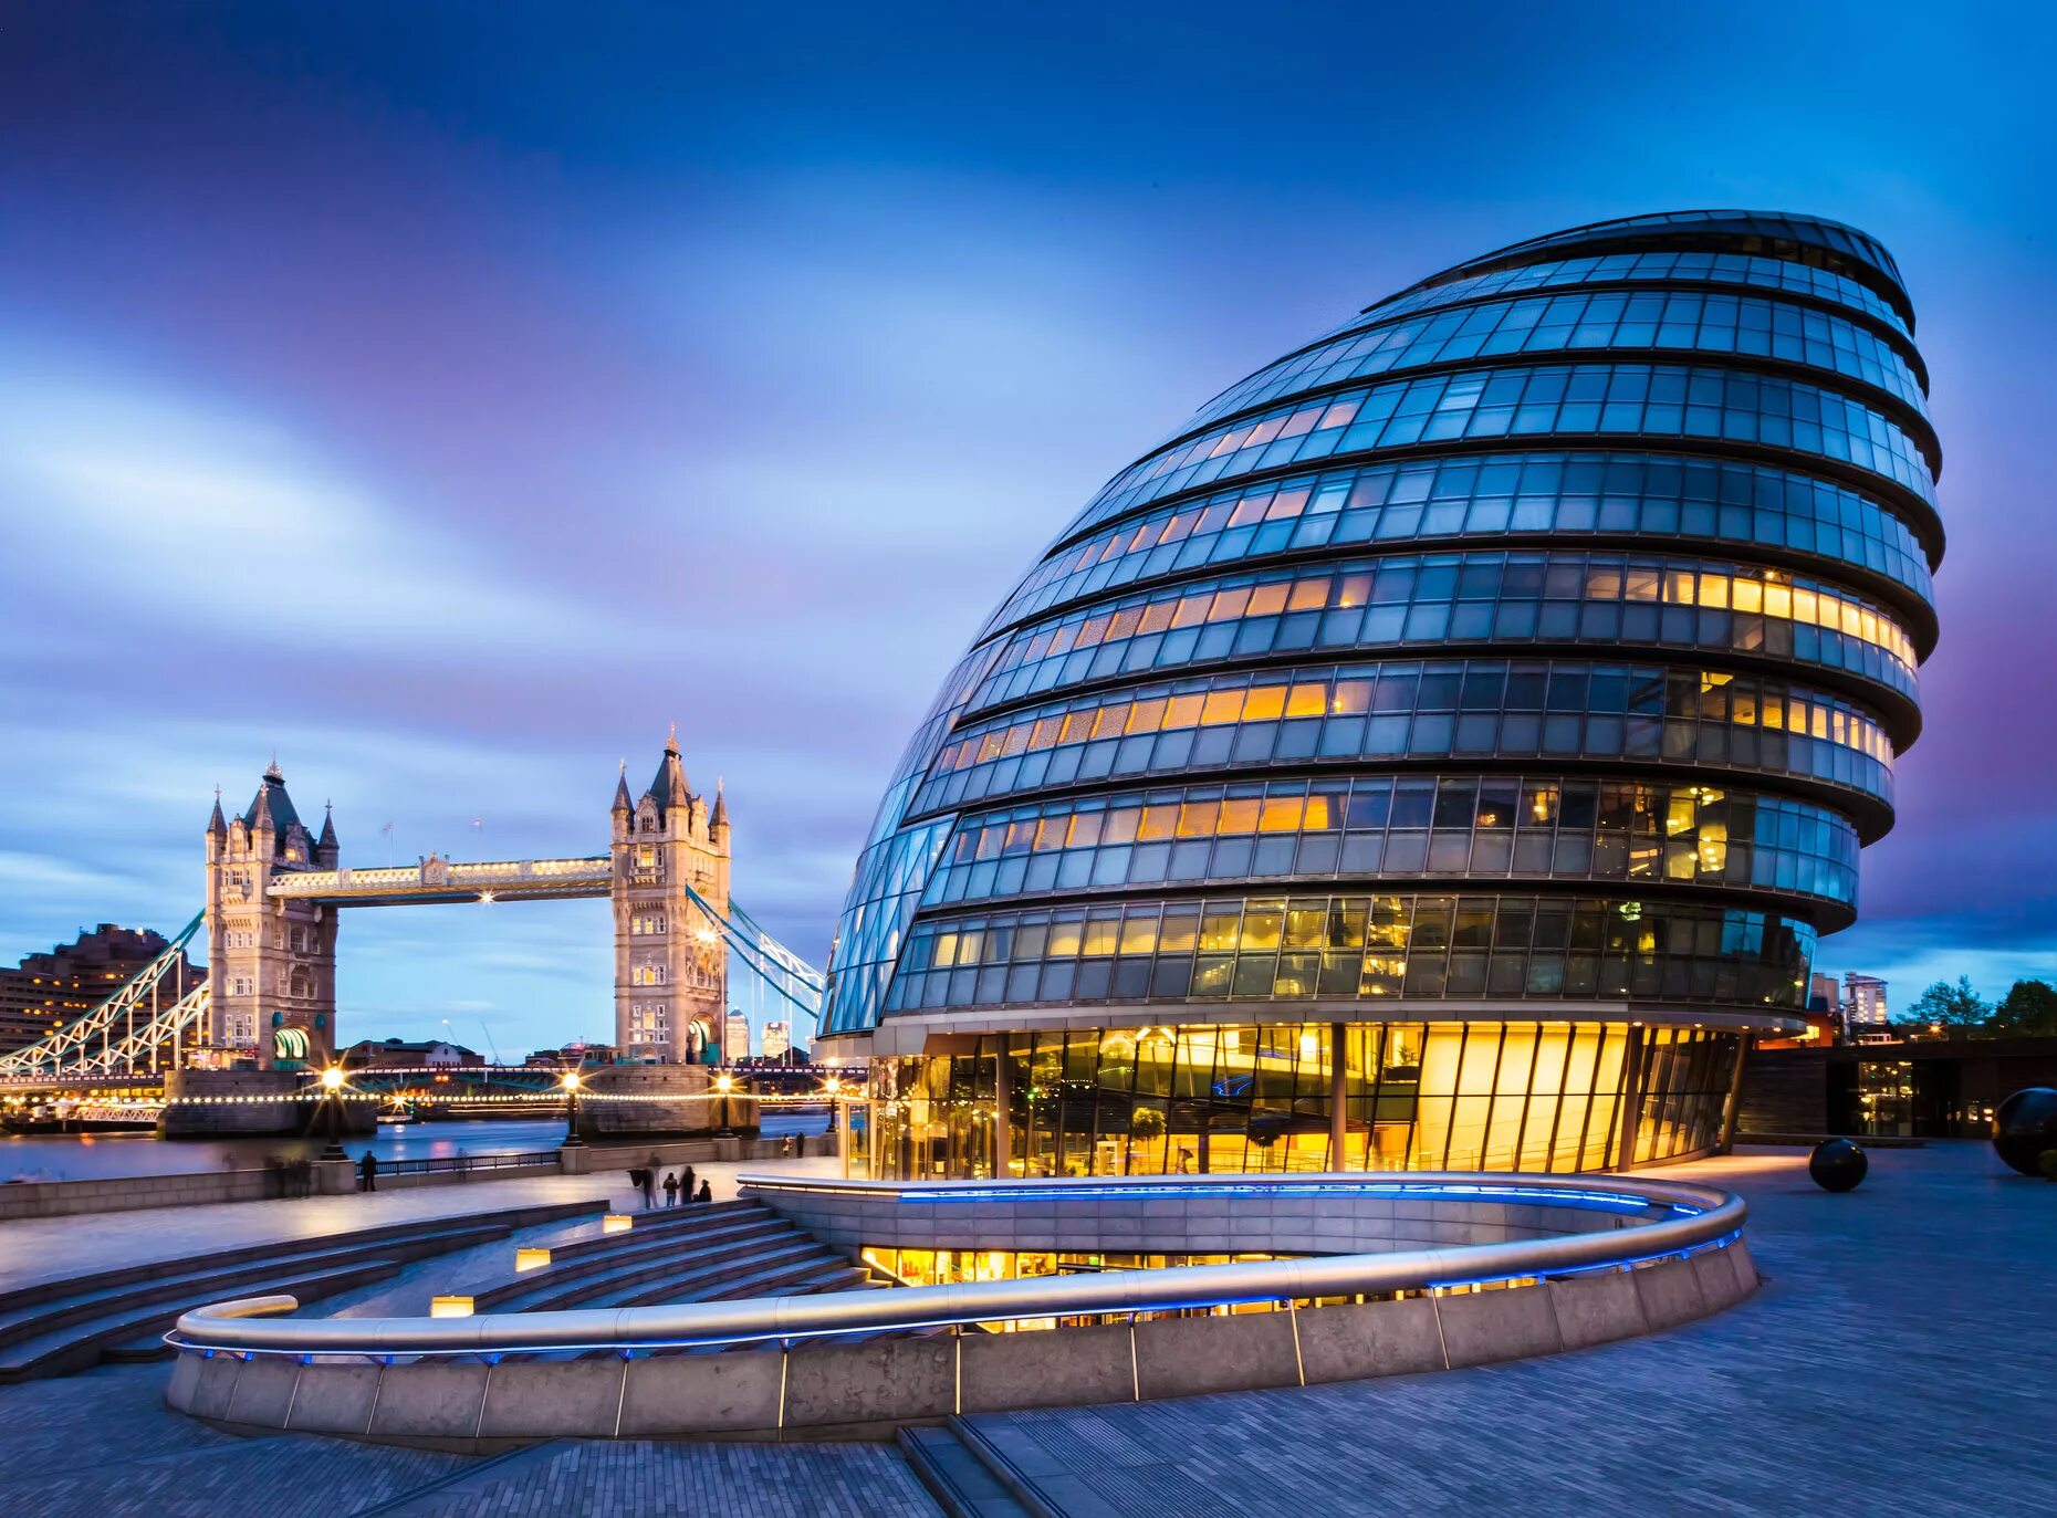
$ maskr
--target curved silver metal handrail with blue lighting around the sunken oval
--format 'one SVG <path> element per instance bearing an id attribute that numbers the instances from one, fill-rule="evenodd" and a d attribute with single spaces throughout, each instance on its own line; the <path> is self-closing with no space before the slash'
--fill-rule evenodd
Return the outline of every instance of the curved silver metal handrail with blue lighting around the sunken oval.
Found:
<path id="1" fill-rule="evenodd" d="M 239 1298 L 193 1308 L 165 1339 L 179 1349 L 243 1356 L 498 1356 L 564 1349 L 679 1349 L 716 1343 L 817 1339 L 843 1333 L 891 1333 L 948 1325 L 1000 1323 L 1191 1306 L 1284 1302 L 1319 1296 L 1419 1292 L 1596 1269 L 1687 1255 L 1730 1242 L 1748 1216 L 1742 1199 L 1711 1187 L 1594 1177 L 1292 1177 L 1290 1183 L 1356 1181 L 1366 1189 L 1409 1187 L 1444 1201 L 1465 1201 L 1452 1187 L 1489 1189 L 1493 1201 L 1528 1199 L 1555 1205 L 1572 1193 L 1641 1197 L 1666 1216 L 1582 1234 L 1522 1238 L 1500 1244 L 1458 1244 L 1382 1255 L 1323 1255 L 1179 1265 L 1156 1271 L 1037 1275 L 1012 1281 L 911 1286 L 891 1292 L 773 1296 L 736 1302 L 685 1302 L 636 1308 L 574 1308 L 564 1312 L 490 1312 L 469 1318 L 306 1318 L 257 1321 L 290 1312 L 290 1296 Z M 1244 1185 L 1277 1187 L 1284 1177 L 1242 1177 Z M 868 1183 L 854 1183 L 864 1187 Z M 969 1183 L 977 1185 L 977 1183 Z M 1010 1183 L 1002 1183 L 1010 1185 Z M 1012 1183 L 1020 1185 L 1020 1183 Z M 1031 1183 L 1035 1185 L 1035 1183 Z M 1103 1183 L 1105 1185 L 1105 1183 Z M 1210 1191 L 1220 1187 L 1210 1181 Z M 1049 1183 L 1061 1191 L 1066 1183 Z M 1508 1193 L 1524 1193 L 1510 1197 Z M 1479 1201 L 1483 1197 L 1469 1197 Z M 1592 1205 L 1592 1203 L 1588 1203 Z M 1619 1214 L 1615 1214 L 1619 1218 Z"/>

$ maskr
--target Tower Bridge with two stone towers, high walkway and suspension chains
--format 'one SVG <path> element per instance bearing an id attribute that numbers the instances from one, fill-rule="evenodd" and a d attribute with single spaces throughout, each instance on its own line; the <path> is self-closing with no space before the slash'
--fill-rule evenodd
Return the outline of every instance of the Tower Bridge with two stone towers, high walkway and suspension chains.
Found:
<path id="1" fill-rule="evenodd" d="M 615 782 L 605 854 L 411 866 L 341 864 L 333 810 L 319 833 L 274 759 L 251 804 L 228 817 L 216 790 L 204 829 L 206 905 L 175 942 L 91 1012 L 0 1057 L 0 1086 L 107 1082 L 185 1065 L 311 1070 L 335 1061 L 337 930 L 344 909 L 479 901 L 613 903 L 615 1047 L 634 1063 L 718 1063 L 730 969 L 806 1018 L 821 975 L 765 934 L 728 893 L 728 802 L 691 790 L 677 730 L 650 786 Z M 206 934 L 206 979 L 181 950 Z"/>

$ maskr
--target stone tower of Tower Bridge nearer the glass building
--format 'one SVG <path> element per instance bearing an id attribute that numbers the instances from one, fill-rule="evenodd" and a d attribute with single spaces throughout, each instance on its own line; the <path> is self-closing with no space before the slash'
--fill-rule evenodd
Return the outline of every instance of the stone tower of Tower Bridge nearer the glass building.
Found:
<path id="1" fill-rule="evenodd" d="M 716 1063 L 728 1010 L 728 946 L 687 887 L 728 913 L 728 804 L 685 784 L 679 730 L 656 780 L 613 804 L 615 1047 L 623 1059 Z"/>

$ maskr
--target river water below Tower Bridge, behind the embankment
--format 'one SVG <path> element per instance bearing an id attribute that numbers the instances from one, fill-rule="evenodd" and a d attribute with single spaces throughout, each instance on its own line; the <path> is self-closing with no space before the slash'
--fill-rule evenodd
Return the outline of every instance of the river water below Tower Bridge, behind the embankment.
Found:
<path id="1" fill-rule="evenodd" d="M 827 1113 L 765 1113 L 763 1133 L 825 1133 Z M 150 1133 L 0 1133 L 0 1183 L 111 1181 L 125 1174 L 191 1174 L 193 1170 L 255 1170 L 272 1156 L 315 1158 L 327 1140 L 158 1140 Z M 381 1160 L 426 1160 L 457 1154 L 527 1154 L 564 1142 L 564 1119 L 488 1119 L 477 1123 L 378 1125 L 378 1137 L 344 1140 L 350 1158 L 370 1150 Z M 631 1140 L 619 1140 L 631 1144 Z"/>

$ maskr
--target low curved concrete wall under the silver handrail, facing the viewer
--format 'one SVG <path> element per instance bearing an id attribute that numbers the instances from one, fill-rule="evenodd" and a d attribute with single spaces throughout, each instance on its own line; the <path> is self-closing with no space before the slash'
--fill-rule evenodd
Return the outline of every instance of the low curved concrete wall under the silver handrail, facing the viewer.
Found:
<path id="1" fill-rule="evenodd" d="M 1286 1312 L 638 1360 L 366 1364 L 179 1356 L 165 1401 L 237 1432 L 492 1452 L 549 1438 L 878 1438 L 950 1413 L 1405 1376 L 1584 1349 L 1742 1300 L 1740 1240 L 1689 1259 Z"/>

